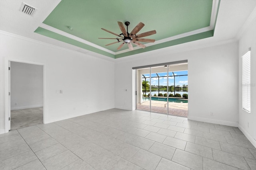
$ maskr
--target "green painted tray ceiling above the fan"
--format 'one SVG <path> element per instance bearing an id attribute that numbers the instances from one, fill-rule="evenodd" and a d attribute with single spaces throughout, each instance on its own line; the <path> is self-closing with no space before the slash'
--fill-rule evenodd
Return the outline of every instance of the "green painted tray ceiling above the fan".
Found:
<path id="1" fill-rule="evenodd" d="M 120 43 L 105 46 L 116 40 L 98 39 L 98 37 L 116 38 L 116 36 L 100 28 L 120 34 L 122 32 L 117 21 L 123 23 L 129 21 L 128 32 L 131 32 L 139 22 L 142 22 L 145 26 L 137 34 L 155 29 L 156 34 L 144 38 L 158 41 L 208 27 L 211 12 L 212 0 L 62 0 L 43 23 L 117 52 Z M 68 29 L 68 26 L 72 27 L 72 30 Z M 145 49 L 113 55 L 45 28 L 38 27 L 35 32 L 112 58 L 125 57 L 184 43 L 183 41 L 188 42 L 213 36 L 213 31 L 208 31 L 208 33 L 203 34 L 206 36 L 198 34 L 198 38 L 196 38 L 197 36 L 185 37 L 180 42 L 169 41 L 169 43 L 156 44 Z M 124 49 L 128 49 L 126 44 L 120 51 Z"/>

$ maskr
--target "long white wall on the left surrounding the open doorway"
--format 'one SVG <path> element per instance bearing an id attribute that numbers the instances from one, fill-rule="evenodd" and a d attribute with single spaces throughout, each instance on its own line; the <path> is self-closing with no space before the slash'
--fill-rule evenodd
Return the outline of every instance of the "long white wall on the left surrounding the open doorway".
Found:
<path id="1" fill-rule="evenodd" d="M 0 37 L 1 132 L 5 128 L 8 60 L 44 64 L 44 123 L 114 108 L 114 62 L 4 32 Z"/>

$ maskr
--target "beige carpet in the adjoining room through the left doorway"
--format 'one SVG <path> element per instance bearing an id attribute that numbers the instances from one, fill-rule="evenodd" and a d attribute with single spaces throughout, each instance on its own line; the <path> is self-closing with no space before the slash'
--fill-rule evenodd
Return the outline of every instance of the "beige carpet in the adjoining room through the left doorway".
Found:
<path id="1" fill-rule="evenodd" d="M 11 111 L 11 130 L 43 123 L 43 107 Z"/>

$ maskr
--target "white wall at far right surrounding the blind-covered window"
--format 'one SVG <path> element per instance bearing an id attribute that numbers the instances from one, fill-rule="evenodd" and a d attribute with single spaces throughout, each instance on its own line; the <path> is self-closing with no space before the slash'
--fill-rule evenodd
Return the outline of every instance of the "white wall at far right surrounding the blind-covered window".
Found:
<path id="1" fill-rule="evenodd" d="M 239 128 L 256 147 L 256 18 L 239 40 Z M 242 55 L 251 47 L 251 113 L 242 109 Z M 249 123 L 249 127 L 248 127 Z"/>

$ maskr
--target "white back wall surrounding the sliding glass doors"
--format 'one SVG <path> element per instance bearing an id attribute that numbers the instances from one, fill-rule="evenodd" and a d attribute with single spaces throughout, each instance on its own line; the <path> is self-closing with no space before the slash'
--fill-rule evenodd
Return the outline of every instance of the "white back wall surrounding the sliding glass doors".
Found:
<path id="1" fill-rule="evenodd" d="M 172 52 L 172 47 L 169 49 L 117 60 L 115 107 L 135 109 L 132 67 L 187 59 L 188 118 L 238 126 L 238 43 L 176 53 Z"/>

